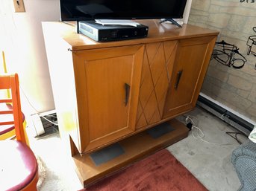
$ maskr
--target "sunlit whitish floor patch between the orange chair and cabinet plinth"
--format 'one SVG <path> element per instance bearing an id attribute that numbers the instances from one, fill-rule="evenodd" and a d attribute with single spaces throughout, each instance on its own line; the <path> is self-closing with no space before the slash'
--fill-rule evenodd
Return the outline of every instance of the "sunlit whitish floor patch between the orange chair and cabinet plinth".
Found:
<path id="1" fill-rule="evenodd" d="M 31 148 L 46 169 L 46 177 L 38 191 L 75 191 L 83 188 L 59 134 L 31 139 Z"/>

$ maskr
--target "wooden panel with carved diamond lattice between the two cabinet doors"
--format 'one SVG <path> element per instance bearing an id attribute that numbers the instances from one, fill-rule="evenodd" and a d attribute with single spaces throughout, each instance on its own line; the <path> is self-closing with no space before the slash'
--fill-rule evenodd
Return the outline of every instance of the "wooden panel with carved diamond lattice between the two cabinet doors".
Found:
<path id="1" fill-rule="evenodd" d="M 159 121 L 172 74 L 177 42 L 146 45 L 137 110 L 137 129 Z"/>

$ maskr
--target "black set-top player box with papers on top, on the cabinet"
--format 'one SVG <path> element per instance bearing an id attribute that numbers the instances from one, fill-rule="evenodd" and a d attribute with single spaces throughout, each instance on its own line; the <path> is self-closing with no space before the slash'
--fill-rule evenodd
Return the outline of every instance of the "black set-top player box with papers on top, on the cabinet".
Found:
<path id="1" fill-rule="evenodd" d="M 123 26 L 101 25 L 94 21 L 78 22 L 78 32 L 99 42 L 125 39 L 137 39 L 148 36 L 149 27 L 146 25 Z"/>

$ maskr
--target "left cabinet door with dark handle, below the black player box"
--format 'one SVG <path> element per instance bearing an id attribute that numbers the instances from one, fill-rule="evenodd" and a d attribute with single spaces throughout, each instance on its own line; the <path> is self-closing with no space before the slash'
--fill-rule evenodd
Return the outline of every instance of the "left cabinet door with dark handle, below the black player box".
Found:
<path id="1" fill-rule="evenodd" d="M 134 45 L 73 54 L 81 152 L 134 132 L 143 49 Z"/>

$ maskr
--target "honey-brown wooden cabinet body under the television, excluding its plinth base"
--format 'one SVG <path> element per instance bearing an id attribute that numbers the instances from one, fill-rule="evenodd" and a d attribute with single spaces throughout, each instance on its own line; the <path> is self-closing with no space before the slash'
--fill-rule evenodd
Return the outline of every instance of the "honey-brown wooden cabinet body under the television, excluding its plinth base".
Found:
<path id="1" fill-rule="evenodd" d="M 216 31 L 139 21 L 149 36 L 94 42 L 43 23 L 60 133 L 87 154 L 193 109 Z M 63 83 L 63 85 L 62 85 Z"/>

